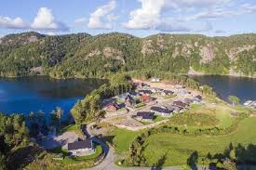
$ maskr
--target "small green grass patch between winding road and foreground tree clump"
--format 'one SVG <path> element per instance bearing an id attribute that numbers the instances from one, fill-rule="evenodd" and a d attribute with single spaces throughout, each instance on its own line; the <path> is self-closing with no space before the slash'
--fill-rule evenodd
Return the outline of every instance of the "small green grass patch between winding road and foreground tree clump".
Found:
<path id="1" fill-rule="evenodd" d="M 116 128 L 109 134 L 108 141 L 115 145 L 117 154 L 125 154 L 128 152 L 129 144 L 140 134 L 141 131 L 133 132 L 126 129 Z"/>

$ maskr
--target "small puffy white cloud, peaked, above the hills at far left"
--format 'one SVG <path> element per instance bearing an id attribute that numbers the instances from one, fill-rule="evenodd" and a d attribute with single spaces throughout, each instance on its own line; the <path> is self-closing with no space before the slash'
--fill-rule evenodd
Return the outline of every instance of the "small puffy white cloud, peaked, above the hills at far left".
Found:
<path id="1" fill-rule="evenodd" d="M 31 28 L 34 30 L 68 31 L 68 27 L 55 20 L 51 10 L 47 7 L 39 8 L 36 17 L 31 24 Z"/>

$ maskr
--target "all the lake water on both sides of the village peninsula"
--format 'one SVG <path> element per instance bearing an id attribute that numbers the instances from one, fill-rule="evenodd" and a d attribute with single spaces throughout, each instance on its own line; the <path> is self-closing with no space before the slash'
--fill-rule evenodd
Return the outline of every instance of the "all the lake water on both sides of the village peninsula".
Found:
<path id="1" fill-rule="evenodd" d="M 225 99 L 235 95 L 242 102 L 256 100 L 256 79 L 230 76 L 191 76 L 201 84 L 210 85 Z M 49 113 L 59 106 L 69 112 L 77 99 L 102 85 L 100 79 L 55 80 L 47 76 L 22 78 L 0 78 L 0 112 L 30 113 L 44 111 Z"/>

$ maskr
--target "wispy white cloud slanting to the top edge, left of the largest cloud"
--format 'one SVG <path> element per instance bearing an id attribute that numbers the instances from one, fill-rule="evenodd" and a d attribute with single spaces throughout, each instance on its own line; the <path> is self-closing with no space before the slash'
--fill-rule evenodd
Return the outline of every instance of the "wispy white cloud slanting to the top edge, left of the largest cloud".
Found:
<path id="1" fill-rule="evenodd" d="M 90 14 L 88 21 L 89 29 L 112 29 L 112 21 L 114 15 L 111 14 L 116 7 L 115 1 L 110 1 L 107 5 L 98 7 L 93 13 Z"/>

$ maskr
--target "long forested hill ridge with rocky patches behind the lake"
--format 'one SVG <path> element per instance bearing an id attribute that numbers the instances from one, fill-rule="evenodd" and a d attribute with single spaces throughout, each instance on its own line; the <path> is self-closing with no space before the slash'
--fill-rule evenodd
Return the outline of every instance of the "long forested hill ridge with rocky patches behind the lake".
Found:
<path id="1" fill-rule="evenodd" d="M 125 33 L 49 36 L 32 32 L 0 39 L 1 76 L 102 77 L 134 70 L 256 76 L 256 34 L 138 38 Z"/>

